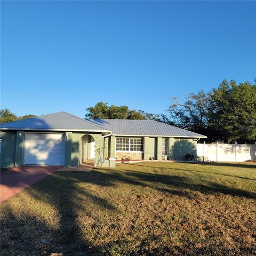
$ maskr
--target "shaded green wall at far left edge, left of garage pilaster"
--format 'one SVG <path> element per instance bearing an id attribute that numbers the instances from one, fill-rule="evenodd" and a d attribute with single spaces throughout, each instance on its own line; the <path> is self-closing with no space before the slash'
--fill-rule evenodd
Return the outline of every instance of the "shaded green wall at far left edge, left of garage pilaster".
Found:
<path id="1" fill-rule="evenodd" d="M 11 167 L 15 162 L 16 131 L 2 132 L 1 166 Z"/>

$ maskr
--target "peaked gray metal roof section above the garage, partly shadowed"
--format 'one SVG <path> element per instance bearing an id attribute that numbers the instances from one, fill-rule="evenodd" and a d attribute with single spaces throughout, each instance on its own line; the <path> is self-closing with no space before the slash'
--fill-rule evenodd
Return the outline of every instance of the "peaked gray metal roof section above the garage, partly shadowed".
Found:
<path id="1" fill-rule="evenodd" d="M 108 131 L 106 128 L 95 122 L 74 116 L 65 111 L 1 124 L 0 129 L 45 131 Z"/>

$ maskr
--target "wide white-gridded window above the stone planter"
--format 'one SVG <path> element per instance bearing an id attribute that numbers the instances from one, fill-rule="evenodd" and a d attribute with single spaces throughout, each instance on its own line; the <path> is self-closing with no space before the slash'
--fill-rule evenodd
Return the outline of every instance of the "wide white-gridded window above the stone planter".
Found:
<path id="1" fill-rule="evenodd" d="M 143 151 L 143 138 L 116 138 L 117 151 Z"/>

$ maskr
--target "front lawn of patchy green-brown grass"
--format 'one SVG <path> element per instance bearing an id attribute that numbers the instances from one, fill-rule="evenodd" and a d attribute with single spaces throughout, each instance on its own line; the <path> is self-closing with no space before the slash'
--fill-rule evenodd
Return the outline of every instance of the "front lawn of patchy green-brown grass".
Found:
<path id="1" fill-rule="evenodd" d="M 1 255 L 255 255 L 256 164 L 55 172 L 1 205 Z"/>

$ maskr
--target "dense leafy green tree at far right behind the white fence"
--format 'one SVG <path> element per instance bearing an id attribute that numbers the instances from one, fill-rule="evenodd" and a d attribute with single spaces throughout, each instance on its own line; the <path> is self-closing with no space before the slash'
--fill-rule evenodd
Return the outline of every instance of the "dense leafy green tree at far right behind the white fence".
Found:
<path id="1" fill-rule="evenodd" d="M 256 140 L 256 85 L 224 80 L 210 92 L 209 129 L 213 139 L 238 143 Z"/>

